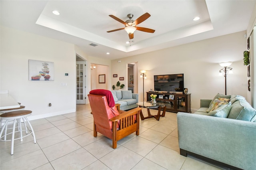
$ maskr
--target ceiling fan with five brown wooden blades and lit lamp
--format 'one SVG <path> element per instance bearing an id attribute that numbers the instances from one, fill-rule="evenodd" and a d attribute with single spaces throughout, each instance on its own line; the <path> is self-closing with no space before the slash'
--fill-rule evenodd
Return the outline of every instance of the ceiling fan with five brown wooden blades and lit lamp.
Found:
<path id="1" fill-rule="evenodd" d="M 148 14 L 148 12 L 146 12 L 145 14 L 143 14 L 142 16 L 140 16 L 137 20 L 132 20 L 133 14 L 128 14 L 128 18 L 129 20 L 127 20 L 126 22 L 120 20 L 119 18 L 117 18 L 116 16 L 113 15 L 109 15 L 111 18 L 113 18 L 114 20 L 117 20 L 118 22 L 124 24 L 124 28 L 119 28 L 116 30 L 111 30 L 111 31 L 107 31 L 107 32 L 115 32 L 115 31 L 119 31 L 119 30 L 126 30 L 126 32 L 129 34 L 129 38 L 132 39 L 134 37 L 134 31 L 139 30 L 139 31 L 143 31 L 143 32 L 149 32 L 149 33 L 154 33 L 155 30 L 152 30 L 150 28 L 143 28 L 143 27 L 137 27 L 138 24 L 142 23 L 143 21 L 145 21 L 146 19 L 148 19 L 150 17 L 150 14 Z"/>

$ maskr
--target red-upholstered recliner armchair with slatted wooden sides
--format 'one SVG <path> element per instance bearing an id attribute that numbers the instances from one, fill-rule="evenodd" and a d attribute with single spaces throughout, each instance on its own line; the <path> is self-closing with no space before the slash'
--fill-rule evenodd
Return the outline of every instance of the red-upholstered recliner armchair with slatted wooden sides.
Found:
<path id="1" fill-rule="evenodd" d="M 136 132 L 139 135 L 142 108 L 130 111 L 116 109 L 111 91 L 97 89 L 88 95 L 94 119 L 94 137 L 97 133 L 112 139 L 112 148 L 116 148 L 117 141 Z"/>

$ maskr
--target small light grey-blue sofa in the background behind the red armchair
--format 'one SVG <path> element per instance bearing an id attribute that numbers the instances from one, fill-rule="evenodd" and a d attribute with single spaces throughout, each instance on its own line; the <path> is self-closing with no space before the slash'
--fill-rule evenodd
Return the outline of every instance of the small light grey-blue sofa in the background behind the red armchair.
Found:
<path id="1" fill-rule="evenodd" d="M 137 93 L 132 93 L 131 90 L 112 90 L 111 91 L 114 101 L 120 104 L 120 110 L 126 111 L 138 107 L 139 95 Z"/>

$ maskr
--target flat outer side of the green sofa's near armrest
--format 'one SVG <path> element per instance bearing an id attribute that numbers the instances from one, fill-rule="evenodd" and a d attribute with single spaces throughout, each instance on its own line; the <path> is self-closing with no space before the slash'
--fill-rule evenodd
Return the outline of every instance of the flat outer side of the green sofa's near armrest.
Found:
<path id="1" fill-rule="evenodd" d="M 255 169 L 256 123 L 179 112 L 178 139 L 183 150 L 241 169 Z"/>

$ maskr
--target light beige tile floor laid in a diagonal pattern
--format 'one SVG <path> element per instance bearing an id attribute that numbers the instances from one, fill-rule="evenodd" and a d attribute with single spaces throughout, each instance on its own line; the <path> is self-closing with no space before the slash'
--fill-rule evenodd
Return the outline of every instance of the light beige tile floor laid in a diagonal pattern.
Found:
<path id="1" fill-rule="evenodd" d="M 0 142 L 1 170 L 217 170 L 228 169 L 208 164 L 192 156 L 180 155 L 176 113 L 166 112 L 160 121 L 140 121 L 140 135 L 131 134 L 118 141 L 93 136 L 90 105 L 77 105 L 75 113 L 31 121 L 32 135 Z M 156 110 L 151 113 L 156 114 Z M 146 109 L 143 110 L 146 116 Z"/>

